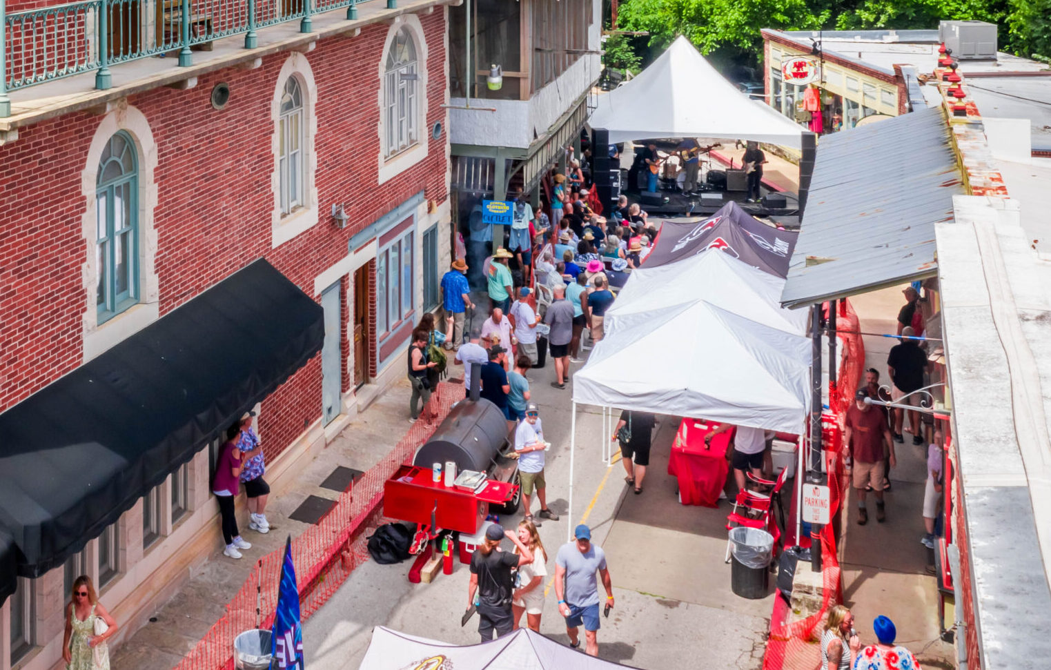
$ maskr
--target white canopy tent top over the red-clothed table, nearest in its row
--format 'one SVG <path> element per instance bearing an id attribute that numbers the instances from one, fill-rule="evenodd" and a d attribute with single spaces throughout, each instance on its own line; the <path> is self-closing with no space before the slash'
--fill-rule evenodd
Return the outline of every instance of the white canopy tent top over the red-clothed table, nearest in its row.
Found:
<path id="1" fill-rule="evenodd" d="M 810 340 L 704 300 L 640 312 L 595 346 L 573 400 L 799 432 Z"/>

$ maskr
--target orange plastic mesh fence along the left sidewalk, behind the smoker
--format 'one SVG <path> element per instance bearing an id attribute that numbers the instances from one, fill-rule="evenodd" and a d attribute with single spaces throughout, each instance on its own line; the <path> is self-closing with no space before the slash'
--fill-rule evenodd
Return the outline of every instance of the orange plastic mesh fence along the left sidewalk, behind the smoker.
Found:
<path id="1" fill-rule="evenodd" d="M 292 539 L 292 561 L 304 620 L 328 602 L 354 568 L 368 560 L 367 533 L 363 530 L 376 525 L 380 519 L 384 483 L 430 439 L 453 403 L 462 398 L 462 383 L 440 382 L 424 411 L 425 416 L 428 412 L 436 412 L 437 419 L 414 423 L 387 456 L 339 496 L 321 521 Z M 233 668 L 233 638 L 251 628 L 272 625 L 284 553 L 282 547 L 255 562 L 248 579 L 226 606 L 226 613 L 176 670 Z"/>

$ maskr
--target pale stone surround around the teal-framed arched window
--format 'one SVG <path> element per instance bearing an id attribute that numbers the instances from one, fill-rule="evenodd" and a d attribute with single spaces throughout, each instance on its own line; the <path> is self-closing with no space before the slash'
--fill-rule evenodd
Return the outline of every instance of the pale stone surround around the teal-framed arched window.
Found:
<path id="1" fill-rule="evenodd" d="M 97 305 L 99 267 L 96 255 L 98 239 L 98 174 L 99 161 L 110 138 L 125 131 L 135 144 L 139 159 L 138 191 L 136 198 L 138 225 L 138 303 L 120 314 L 100 322 Z M 84 244 L 84 272 L 81 273 L 84 296 L 83 362 L 87 362 L 115 344 L 146 328 L 160 317 L 160 280 L 157 273 L 158 236 L 153 210 L 157 206 L 157 184 L 153 175 L 158 165 L 157 142 L 149 122 L 139 109 L 125 106 L 110 111 L 99 123 L 87 160 L 81 171 L 81 195 L 84 209 L 81 215 L 81 235 Z"/>

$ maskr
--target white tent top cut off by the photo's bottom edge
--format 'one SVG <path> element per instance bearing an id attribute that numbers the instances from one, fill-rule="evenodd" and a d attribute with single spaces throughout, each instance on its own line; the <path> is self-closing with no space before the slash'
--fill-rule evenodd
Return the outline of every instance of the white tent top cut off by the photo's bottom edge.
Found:
<path id="1" fill-rule="evenodd" d="M 624 666 L 574 651 L 528 628 L 482 645 L 457 647 L 376 626 L 359 670 L 609 670 Z"/>

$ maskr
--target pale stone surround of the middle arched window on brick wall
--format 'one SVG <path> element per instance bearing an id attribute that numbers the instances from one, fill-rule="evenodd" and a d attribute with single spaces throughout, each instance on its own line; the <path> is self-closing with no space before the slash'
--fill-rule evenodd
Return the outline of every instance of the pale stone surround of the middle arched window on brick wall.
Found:
<path id="1" fill-rule="evenodd" d="M 289 203 L 285 211 L 282 179 L 281 132 L 288 119 L 282 114 L 281 102 L 285 96 L 285 86 L 289 78 L 294 77 L 300 85 L 303 109 L 300 117 L 300 159 L 301 197 L 292 206 Z M 307 57 L 293 51 L 285 60 L 277 79 L 274 82 L 273 99 L 270 101 L 270 117 L 273 122 L 273 134 L 270 148 L 273 151 L 273 172 L 270 180 L 273 192 L 273 212 L 270 225 L 270 246 L 277 248 L 296 235 L 309 230 L 318 221 L 317 205 L 317 154 L 314 150 L 314 138 L 317 135 L 317 85 L 314 82 L 313 70 Z"/>

